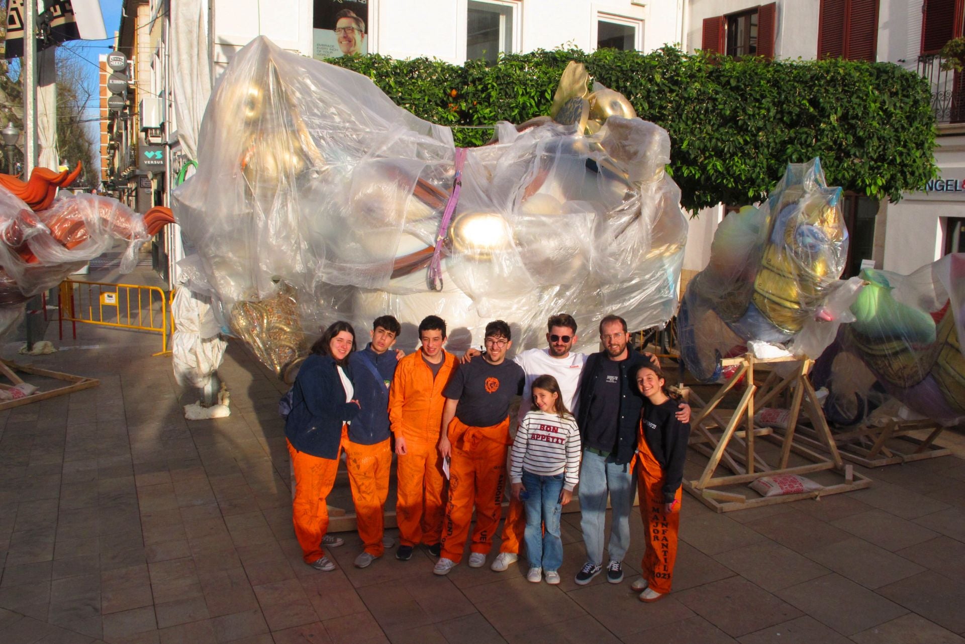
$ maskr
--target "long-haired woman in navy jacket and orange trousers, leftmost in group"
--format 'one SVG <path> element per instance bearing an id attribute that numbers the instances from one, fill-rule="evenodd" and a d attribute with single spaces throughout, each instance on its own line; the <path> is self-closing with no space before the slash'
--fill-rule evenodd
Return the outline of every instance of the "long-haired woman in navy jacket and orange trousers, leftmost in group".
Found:
<path id="1" fill-rule="evenodd" d="M 285 420 L 295 474 L 291 521 L 302 558 L 321 571 L 335 570 L 335 564 L 321 550 L 328 531 L 325 497 L 335 484 L 342 444 L 348 436 L 347 423 L 359 413 L 348 366 L 354 345 L 355 331 L 347 322 L 335 322 L 325 330 L 298 369 L 291 411 Z"/>

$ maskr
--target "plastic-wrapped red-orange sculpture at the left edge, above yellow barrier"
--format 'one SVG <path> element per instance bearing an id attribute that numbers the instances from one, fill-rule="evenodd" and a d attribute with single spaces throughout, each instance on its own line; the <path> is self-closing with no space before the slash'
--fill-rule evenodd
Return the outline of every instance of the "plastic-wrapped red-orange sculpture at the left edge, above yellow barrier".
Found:
<path id="1" fill-rule="evenodd" d="M 129 242 L 121 262 L 128 272 L 137 246 L 174 223 L 167 208 L 135 213 L 120 201 L 94 195 L 61 193 L 80 174 L 36 168 L 29 181 L 0 174 L 0 337 L 12 332 L 27 300 L 52 288 L 115 239 Z"/>

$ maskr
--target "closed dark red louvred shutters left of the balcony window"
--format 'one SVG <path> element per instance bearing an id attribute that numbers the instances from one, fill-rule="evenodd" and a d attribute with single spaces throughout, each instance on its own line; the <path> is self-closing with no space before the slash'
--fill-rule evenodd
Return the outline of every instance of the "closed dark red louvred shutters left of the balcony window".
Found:
<path id="1" fill-rule="evenodd" d="M 817 58 L 877 59 L 878 0 L 821 0 Z"/>

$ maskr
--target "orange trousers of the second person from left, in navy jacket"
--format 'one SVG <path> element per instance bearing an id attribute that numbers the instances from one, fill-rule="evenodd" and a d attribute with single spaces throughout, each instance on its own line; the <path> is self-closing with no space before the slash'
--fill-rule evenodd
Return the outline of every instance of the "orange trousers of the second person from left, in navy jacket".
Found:
<path id="1" fill-rule="evenodd" d="M 389 470 L 392 469 L 392 446 L 386 439 L 381 443 L 363 445 L 348 440 L 342 434 L 348 485 L 355 503 L 355 524 L 365 544 L 365 551 L 374 557 L 382 556 L 385 546 L 385 499 L 389 496 Z"/>

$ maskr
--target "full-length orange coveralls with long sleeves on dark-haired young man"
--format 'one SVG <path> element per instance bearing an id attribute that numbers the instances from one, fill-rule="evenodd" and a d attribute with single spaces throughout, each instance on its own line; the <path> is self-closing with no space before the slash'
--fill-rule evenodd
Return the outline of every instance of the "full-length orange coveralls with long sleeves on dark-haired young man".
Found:
<path id="1" fill-rule="evenodd" d="M 445 515 L 446 477 L 437 445 L 442 411 L 455 356 L 445 352 L 435 379 L 416 351 L 399 361 L 389 389 L 389 421 L 392 432 L 405 439 L 405 454 L 397 458 L 396 521 L 402 546 L 441 541 Z"/>

